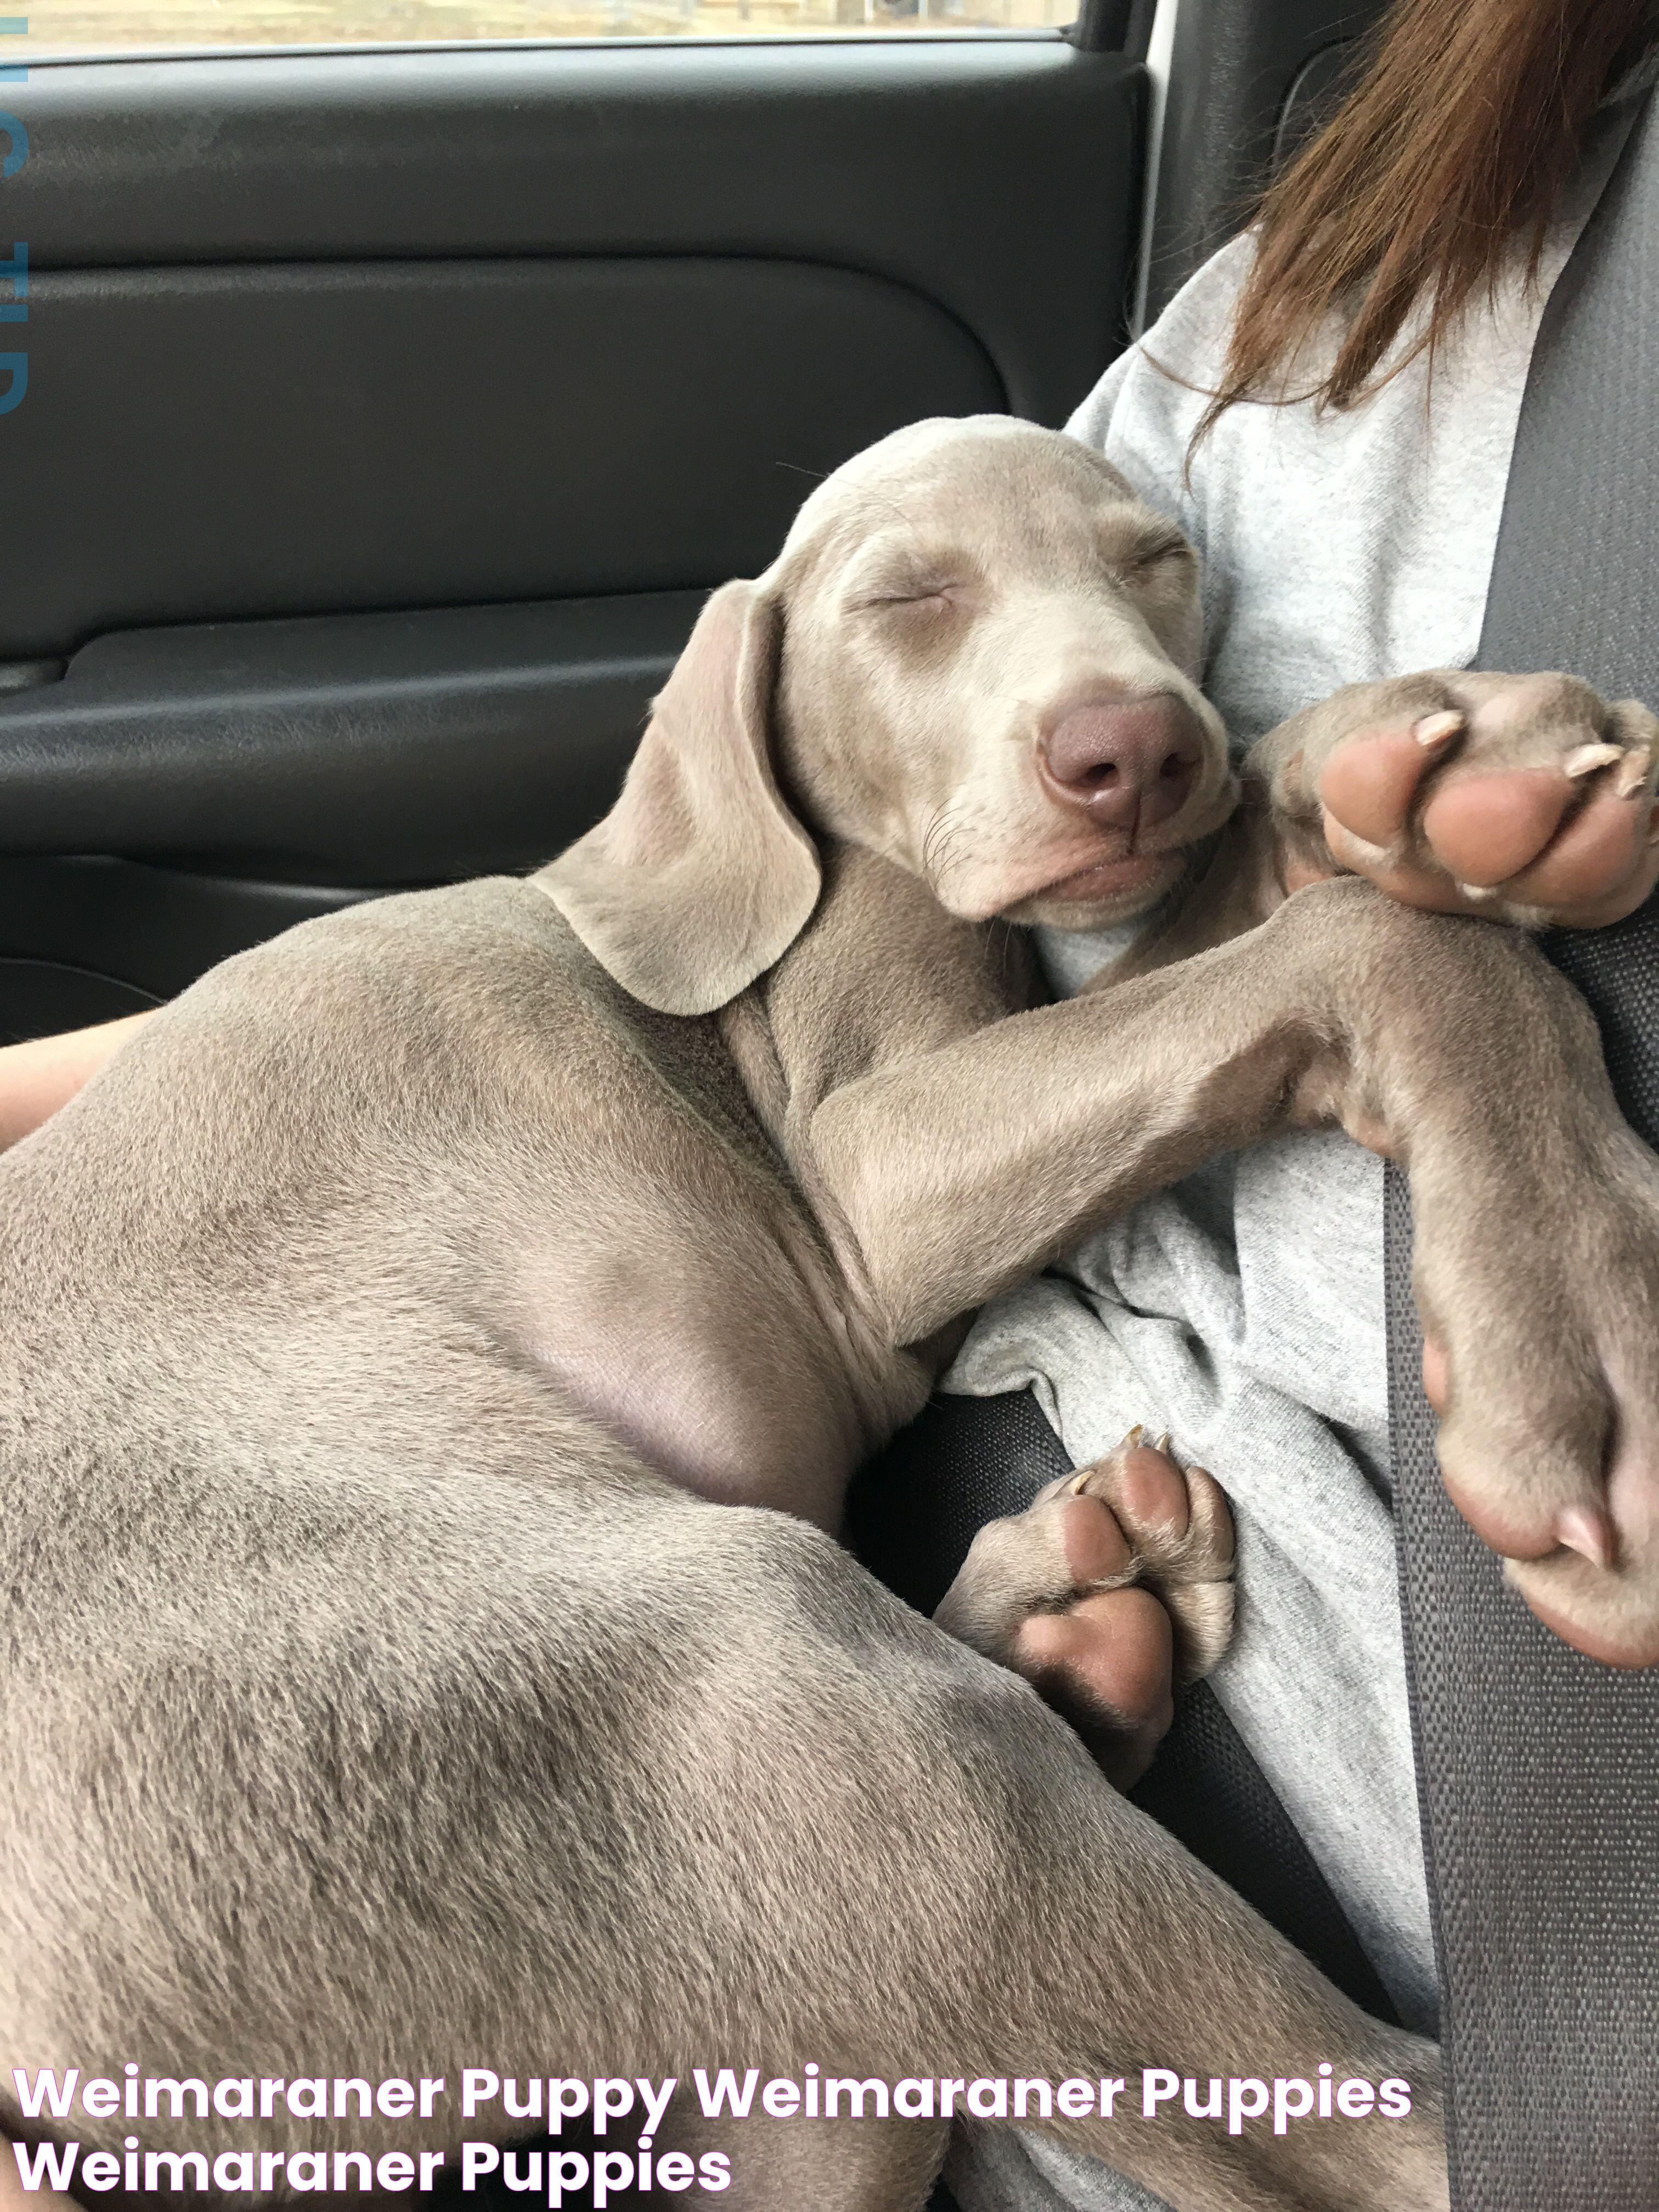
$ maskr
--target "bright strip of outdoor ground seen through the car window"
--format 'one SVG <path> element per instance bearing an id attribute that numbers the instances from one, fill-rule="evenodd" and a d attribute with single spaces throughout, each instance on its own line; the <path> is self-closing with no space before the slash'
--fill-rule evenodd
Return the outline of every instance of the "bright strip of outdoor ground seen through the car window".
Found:
<path id="1" fill-rule="evenodd" d="M 1053 29 L 1077 0 L 46 0 L 0 60 L 157 46 Z"/>

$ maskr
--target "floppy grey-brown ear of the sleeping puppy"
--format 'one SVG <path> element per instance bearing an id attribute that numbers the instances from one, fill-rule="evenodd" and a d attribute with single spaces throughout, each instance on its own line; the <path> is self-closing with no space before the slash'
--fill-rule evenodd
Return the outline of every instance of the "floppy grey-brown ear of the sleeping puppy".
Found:
<path id="1" fill-rule="evenodd" d="M 818 900 L 818 854 L 772 772 L 781 630 L 761 584 L 723 584 L 657 697 L 622 796 L 533 878 L 659 1013 L 737 998 Z"/>

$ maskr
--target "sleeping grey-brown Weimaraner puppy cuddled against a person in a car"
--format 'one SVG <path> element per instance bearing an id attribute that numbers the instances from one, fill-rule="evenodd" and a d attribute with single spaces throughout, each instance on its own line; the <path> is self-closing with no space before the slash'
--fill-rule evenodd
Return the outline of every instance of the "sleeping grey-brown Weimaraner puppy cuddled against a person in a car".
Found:
<path id="1" fill-rule="evenodd" d="M 1177 2212 L 1444 2208 L 1433 2048 L 1018 1672 L 1141 1763 L 1150 1615 L 1152 1672 L 1225 1639 L 1212 1486 L 1130 1444 L 1000 1524 L 947 1599 L 967 1641 L 832 1535 L 987 1296 L 1221 1148 L 1343 1121 L 1409 1161 L 1460 1500 L 1546 1617 L 1659 1655 L 1659 1177 L 1588 1015 L 1513 929 L 1352 874 L 1283 896 L 1332 874 L 1358 730 L 1329 774 L 1378 869 L 1440 867 L 1442 805 L 1478 885 L 1458 774 L 1504 768 L 1553 799 L 1498 874 L 1542 852 L 1537 905 L 1571 902 L 1582 821 L 1646 865 L 1655 723 L 1564 679 L 1371 686 L 1239 807 L 1197 653 L 1192 555 L 1102 460 L 905 431 L 714 593 L 560 860 L 226 962 L 0 1161 L 7 2068 L 1329 2059 L 1411 2115 L 1044 2126 Z M 1022 922 L 1148 909 L 1194 852 L 1137 973 L 1040 1004 Z M 75 2119 L 135 2126 L 453 2161 L 511 2121 Z M 688 2203 L 905 2212 L 942 2154 L 929 2121 L 721 2141 L 730 2190 Z"/>

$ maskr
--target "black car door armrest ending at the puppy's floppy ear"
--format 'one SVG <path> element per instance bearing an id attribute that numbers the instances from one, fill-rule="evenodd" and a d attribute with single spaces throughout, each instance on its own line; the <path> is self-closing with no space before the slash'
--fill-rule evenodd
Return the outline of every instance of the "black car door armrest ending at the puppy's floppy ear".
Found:
<path id="1" fill-rule="evenodd" d="M 0 697 L 0 854 L 389 887 L 604 814 L 701 593 L 100 637 Z"/>

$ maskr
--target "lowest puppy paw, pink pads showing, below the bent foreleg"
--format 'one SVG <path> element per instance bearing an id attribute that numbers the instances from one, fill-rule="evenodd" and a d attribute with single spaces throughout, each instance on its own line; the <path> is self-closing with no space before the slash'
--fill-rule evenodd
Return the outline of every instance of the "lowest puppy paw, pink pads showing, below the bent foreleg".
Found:
<path id="1" fill-rule="evenodd" d="M 1117 1451 L 987 1522 L 936 1613 L 1024 1674 L 1126 1790 L 1152 1763 L 1175 1683 L 1232 1637 L 1232 1515 L 1219 1484 L 1130 1429 Z"/>

